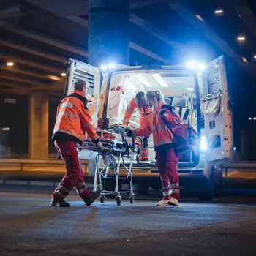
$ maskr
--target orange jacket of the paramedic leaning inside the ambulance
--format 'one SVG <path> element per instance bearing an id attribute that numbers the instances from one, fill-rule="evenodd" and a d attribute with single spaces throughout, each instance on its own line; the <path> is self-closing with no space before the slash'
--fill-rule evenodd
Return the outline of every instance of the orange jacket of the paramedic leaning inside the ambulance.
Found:
<path id="1" fill-rule="evenodd" d="M 129 119 L 132 117 L 132 114 L 134 113 L 136 108 L 138 108 L 138 105 L 135 103 L 135 98 L 133 98 L 127 105 L 127 111 L 125 112 L 123 120 L 124 125 L 129 124 Z M 146 120 L 148 116 L 150 116 L 150 114 L 152 113 L 152 109 L 148 106 L 148 104 L 146 104 L 144 108 L 138 108 L 138 110 L 140 111 L 139 127 L 141 129 L 146 127 Z"/>

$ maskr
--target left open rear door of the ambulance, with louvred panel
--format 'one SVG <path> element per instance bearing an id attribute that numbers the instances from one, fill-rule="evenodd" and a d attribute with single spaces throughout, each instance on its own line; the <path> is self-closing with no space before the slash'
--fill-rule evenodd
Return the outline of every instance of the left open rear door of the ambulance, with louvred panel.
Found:
<path id="1" fill-rule="evenodd" d="M 97 127 L 97 112 L 99 107 L 99 94 L 101 84 L 101 74 L 99 68 L 83 63 L 81 61 L 77 61 L 75 59 L 69 59 L 64 97 L 67 97 L 67 95 L 72 93 L 74 90 L 73 83 L 78 79 L 89 82 L 89 86 L 86 91 L 86 98 L 89 99 L 89 109 L 94 127 Z"/>

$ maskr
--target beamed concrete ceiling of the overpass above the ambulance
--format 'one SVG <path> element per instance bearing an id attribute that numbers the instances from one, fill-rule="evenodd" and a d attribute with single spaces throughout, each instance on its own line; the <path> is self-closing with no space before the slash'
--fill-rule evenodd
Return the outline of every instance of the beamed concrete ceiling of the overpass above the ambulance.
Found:
<path id="1" fill-rule="evenodd" d="M 222 15 L 214 10 L 222 8 Z M 2 0 L 0 90 L 61 95 L 68 58 L 87 62 L 88 1 Z M 130 63 L 178 64 L 221 54 L 255 74 L 256 4 L 252 1 L 129 1 Z M 244 35 L 246 41 L 236 38 Z M 242 59 L 246 58 L 246 62 Z M 7 67 L 7 61 L 14 61 Z M 59 77 L 58 81 L 50 75 Z"/>

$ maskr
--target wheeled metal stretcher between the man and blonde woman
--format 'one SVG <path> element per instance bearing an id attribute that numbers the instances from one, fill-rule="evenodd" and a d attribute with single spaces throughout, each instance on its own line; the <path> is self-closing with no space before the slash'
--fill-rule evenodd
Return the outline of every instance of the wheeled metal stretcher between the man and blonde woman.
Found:
<path id="1" fill-rule="evenodd" d="M 90 139 L 84 141 L 84 149 L 97 152 L 95 157 L 95 173 L 94 173 L 94 191 L 97 190 L 97 181 L 99 178 L 99 189 L 101 189 L 100 202 L 105 202 L 106 195 L 113 195 L 116 198 L 118 206 L 121 205 L 121 194 L 129 195 L 129 202 L 134 203 L 135 194 L 132 184 L 132 154 L 136 154 L 135 141 L 125 135 L 113 134 L 110 139 L 100 138 L 103 150 L 97 150 Z M 105 166 L 100 170 L 99 158 L 102 157 Z M 126 160 L 126 161 L 125 161 Z M 127 162 L 128 161 L 128 162 Z M 120 169 L 126 170 L 127 175 L 121 177 Z M 114 179 L 115 187 L 113 191 L 105 190 L 103 187 L 104 179 Z M 119 180 L 129 180 L 129 189 L 120 191 Z"/>

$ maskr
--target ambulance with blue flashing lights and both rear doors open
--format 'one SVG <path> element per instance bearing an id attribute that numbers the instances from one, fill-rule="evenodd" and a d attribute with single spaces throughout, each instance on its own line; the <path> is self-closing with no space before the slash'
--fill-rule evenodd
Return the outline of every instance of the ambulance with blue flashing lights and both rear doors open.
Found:
<path id="1" fill-rule="evenodd" d="M 69 59 L 64 97 L 72 93 L 77 79 L 89 82 L 86 97 L 94 127 L 121 124 L 127 105 L 138 91 L 162 91 L 165 102 L 176 108 L 181 122 L 199 135 L 195 150 L 178 156 L 180 185 L 197 192 L 200 200 L 213 198 L 214 187 L 221 185 L 222 165 L 233 157 L 233 111 L 224 56 L 207 65 L 190 61 L 178 66 L 105 64 L 100 68 Z M 131 124 L 136 121 L 135 111 Z M 152 136 L 149 148 L 148 162 L 134 159 L 132 173 L 138 192 L 161 188 Z M 94 159 L 88 151 L 80 151 L 79 157 Z M 92 161 L 89 176 L 94 176 L 94 168 Z"/>

